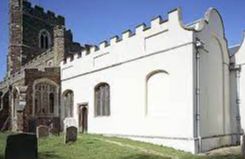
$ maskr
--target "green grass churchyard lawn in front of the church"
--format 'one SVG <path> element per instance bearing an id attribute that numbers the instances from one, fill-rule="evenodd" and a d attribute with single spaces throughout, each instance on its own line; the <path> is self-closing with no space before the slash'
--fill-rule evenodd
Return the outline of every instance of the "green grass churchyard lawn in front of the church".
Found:
<path id="1" fill-rule="evenodd" d="M 0 159 L 4 157 L 8 134 L 0 133 Z M 39 159 L 241 159 L 240 155 L 196 156 L 171 148 L 99 135 L 79 135 L 73 144 L 63 136 L 38 141 Z"/>

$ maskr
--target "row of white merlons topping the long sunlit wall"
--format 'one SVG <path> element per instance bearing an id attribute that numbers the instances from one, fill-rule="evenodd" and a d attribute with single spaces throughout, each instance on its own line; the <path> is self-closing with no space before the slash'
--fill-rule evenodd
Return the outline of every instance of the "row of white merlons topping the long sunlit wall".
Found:
<path id="1" fill-rule="evenodd" d="M 180 9 L 174 9 L 168 12 L 168 19 L 162 19 L 161 16 L 157 16 L 153 18 L 150 22 L 150 26 L 147 26 L 145 23 L 137 25 L 134 31 L 128 29 L 122 32 L 121 35 L 115 35 L 111 37 L 109 40 L 104 40 L 99 43 L 98 46 L 91 46 L 89 50 L 83 50 L 80 54 L 74 54 L 73 57 L 67 57 L 64 59 L 63 65 L 72 62 L 75 59 L 82 58 L 84 56 L 97 56 L 100 52 L 104 53 L 105 50 L 110 50 L 112 47 L 123 43 L 124 41 L 128 41 L 133 37 L 142 37 L 144 34 L 148 34 L 149 32 L 155 32 L 156 28 L 166 28 L 168 30 L 170 27 L 179 26 L 184 30 L 190 30 L 189 28 L 184 27 L 181 21 Z M 175 23 L 176 26 L 173 25 Z"/>

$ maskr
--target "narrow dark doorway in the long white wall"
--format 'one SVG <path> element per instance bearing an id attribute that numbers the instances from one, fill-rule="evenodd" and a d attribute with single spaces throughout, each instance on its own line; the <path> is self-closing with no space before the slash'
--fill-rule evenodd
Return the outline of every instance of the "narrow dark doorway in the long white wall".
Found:
<path id="1" fill-rule="evenodd" d="M 87 133 L 88 130 L 88 103 L 79 105 L 79 131 Z"/>

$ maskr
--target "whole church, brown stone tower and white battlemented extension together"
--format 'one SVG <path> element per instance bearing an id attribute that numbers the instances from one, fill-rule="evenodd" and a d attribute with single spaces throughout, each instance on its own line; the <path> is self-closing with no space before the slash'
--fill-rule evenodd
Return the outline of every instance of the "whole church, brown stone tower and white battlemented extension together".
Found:
<path id="1" fill-rule="evenodd" d="M 74 42 L 52 11 L 27 0 L 9 7 L 0 131 L 76 126 L 191 153 L 240 144 L 245 40 L 228 47 L 215 8 L 191 24 L 174 9 L 97 46 Z"/>

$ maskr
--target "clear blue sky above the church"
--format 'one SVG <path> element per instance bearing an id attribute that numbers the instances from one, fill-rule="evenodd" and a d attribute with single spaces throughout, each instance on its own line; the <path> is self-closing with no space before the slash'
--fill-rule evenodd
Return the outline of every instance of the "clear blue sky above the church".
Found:
<path id="1" fill-rule="evenodd" d="M 8 52 L 8 1 L 0 0 L 0 80 L 6 73 Z M 220 12 L 229 46 L 241 42 L 245 30 L 244 0 L 29 0 L 66 18 L 66 28 L 81 44 L 98 44 L 121 35 L 158 15 L 182 9 L 183 22 L 202 18 L 209 7 Z"/>

